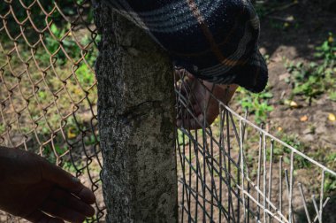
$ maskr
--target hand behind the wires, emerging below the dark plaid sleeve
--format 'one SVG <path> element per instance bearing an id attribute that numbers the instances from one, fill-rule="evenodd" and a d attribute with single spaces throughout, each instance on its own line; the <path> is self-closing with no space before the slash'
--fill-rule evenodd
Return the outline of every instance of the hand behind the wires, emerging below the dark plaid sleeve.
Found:
<path id="1" fill-rule="evenodd" d="M 205 123 L 205 127 L 209 127 L 218 117 L 218 101 L 228 104 L 236 88 L 238 86 L 235 84 L 213 84 L 208 81 L 197 80 L 193 75 L 187 74 L 187 80 L 182 81 L 178 86 L 181 96 L 187 99 L 187 108 L 183 107 L 180 110 L 177 126 L 200 129 Z"/>

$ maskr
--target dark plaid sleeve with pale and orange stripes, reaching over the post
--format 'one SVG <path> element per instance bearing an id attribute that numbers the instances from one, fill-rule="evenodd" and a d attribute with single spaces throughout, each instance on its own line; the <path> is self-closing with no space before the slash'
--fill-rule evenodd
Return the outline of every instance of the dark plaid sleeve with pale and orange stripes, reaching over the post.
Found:
<path id="1" fill-rule="evenodd" d="M 107 0 L 145 29 L 177 66 L 214 83 L 261 92 L 267 65 L 258 50 L 259 19 L 249 0 Z"/>

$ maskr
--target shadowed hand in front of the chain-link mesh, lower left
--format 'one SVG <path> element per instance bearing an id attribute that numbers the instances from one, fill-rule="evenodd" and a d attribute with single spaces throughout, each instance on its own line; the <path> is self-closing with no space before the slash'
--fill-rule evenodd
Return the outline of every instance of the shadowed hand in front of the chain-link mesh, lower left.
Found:
<path id="1" fill-rule="evenodd" d="M 83 222 L 95 195 L 33 153 L 0 147 L 0 209 L 32 222 Z"/>

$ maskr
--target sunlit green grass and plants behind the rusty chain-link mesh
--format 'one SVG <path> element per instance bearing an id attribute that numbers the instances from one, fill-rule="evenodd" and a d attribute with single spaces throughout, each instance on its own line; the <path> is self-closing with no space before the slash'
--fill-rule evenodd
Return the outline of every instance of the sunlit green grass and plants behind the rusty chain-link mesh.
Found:
<path id="1" fill-rule="evenodd" d="M 27 12 L 17 4 L 12 6 L 18 8 L 18 19 L 25 19 Z M 0 12 L 7 10 L 4 7 Z M 33 12 L 35 26 L 45 26 L 41 9 L 33 7 Z M 93 119 L 97 92 L 92 70 L 98 52 L 86 27 L 72 27 L 73 33 L 69 33 L 73 25 L 62 22 L 59 12 L 55 11 L 50 19 L 53 19 L 50 30 L 46 29 L 43 35 L 36 34 L 27 24 L 27 40 L 19 38 L 15 44 L 4 30 L 0 32 L 0 102 L 3 104 L 0 135 L 27 137 L 29 150 L 40 150 L 51 163 L 58 161 L 66 170 L 77 173 L 86 164 L 75 160 L 86 160 L 80 157 L 84 150 L 90 156 L 99 141 Z M 7 22 L 13 34 L 19 32 L 19 25 L 11 16 Z M 39 38 L 45 46 L 40 42 L 34 49 L 28 47 L 27 42 Z M 99 41 L 99 36 L 95 41 Z M 70 148 L 76 153 L 74 160 L 69 157 Z"/>

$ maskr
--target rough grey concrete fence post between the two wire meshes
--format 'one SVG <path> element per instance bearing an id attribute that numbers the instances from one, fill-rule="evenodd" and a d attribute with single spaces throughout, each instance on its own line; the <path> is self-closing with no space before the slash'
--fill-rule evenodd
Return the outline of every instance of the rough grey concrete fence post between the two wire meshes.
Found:
<path id="1" fill-rule="evenodd" d="M 138 27 L 94 1 L 107 222 L 177 222 L 172 63 Z"/>

